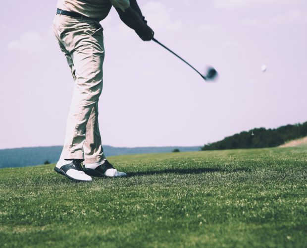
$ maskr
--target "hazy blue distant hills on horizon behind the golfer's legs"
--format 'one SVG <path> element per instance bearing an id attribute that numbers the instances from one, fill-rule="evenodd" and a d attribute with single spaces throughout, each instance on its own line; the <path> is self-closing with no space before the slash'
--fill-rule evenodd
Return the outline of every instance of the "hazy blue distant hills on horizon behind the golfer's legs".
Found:
<path id="1" fill-rule="evenodd" d="M 30 165 L 41 165 L 45 161 L 56 163 L 62 146 L 42 146 L 26 147 L 0 150 L 0 168 L 21 167 Z M 103 150 L 106 156 L 124 155 L 124 154 L 142 154 L 142 153 L 163 153 L 171 152 L 174 149 L 180 151 L 199 151 L 200 146 L 165 146 L 165 147 L 113 147 L 104 145 Z"/>

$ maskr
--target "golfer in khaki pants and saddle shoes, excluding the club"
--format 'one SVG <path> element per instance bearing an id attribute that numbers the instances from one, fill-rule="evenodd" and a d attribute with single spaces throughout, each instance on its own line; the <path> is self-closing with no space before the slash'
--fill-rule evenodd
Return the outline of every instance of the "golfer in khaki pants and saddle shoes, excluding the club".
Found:
<path id="1" fill-rule="evenodd" d="M 98 124 L 104 59 L 103 28 L 99 22 L 112 6 L 143 41 L 153 38 L 153 30 L 136 0 L 58 0 L 56 6 L 53 31 L 70 67 L 74 90 L 64 147 L 54 170 L 74 181 L 126 175 L 106 160 Z"/>

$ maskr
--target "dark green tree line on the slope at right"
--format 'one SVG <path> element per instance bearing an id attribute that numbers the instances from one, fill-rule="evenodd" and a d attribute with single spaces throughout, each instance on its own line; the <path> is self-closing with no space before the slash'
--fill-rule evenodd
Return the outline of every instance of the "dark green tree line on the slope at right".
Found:
<path id="1" fill-rule="evenodd" d="M 201 150 L 274 147 L 282 145 L 286 141 L 305 136 L 307 136 L 307 122 L 280 126 L 276 129 L 260 127 L 234 134 L 214 143 L 206 144 L 201 147 Z"/>

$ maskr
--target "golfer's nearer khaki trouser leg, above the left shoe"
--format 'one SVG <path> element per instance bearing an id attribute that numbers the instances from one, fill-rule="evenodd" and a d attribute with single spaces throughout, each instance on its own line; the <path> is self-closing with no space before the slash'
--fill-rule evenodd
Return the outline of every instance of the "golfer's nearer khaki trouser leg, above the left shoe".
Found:
<path id="1" fill-rule="evenodd" d="M 62 152 L 64 159 L 84 159 L 86 126 L 102 92 L 102 32 L 101 37 L 97 36 L 79 41 L 72 53 L 76 80 Z"/>

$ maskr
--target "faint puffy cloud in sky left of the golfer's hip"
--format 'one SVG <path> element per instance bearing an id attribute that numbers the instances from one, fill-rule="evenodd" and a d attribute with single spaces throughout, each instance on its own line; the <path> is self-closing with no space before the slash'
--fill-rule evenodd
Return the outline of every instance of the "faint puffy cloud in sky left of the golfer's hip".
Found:
<path id="1" fill-rule="evenodd" d="M 25 52 L 34 54 L 43 51 L 47 48 L 46 38 L 35 31 L 27 31 L 18 39 L 7 44 L 7 50 L 13 52 Z"/>

